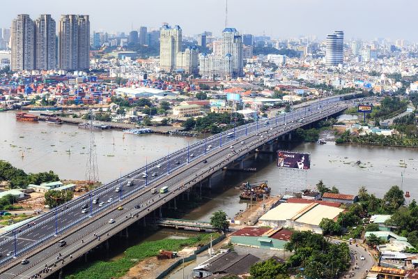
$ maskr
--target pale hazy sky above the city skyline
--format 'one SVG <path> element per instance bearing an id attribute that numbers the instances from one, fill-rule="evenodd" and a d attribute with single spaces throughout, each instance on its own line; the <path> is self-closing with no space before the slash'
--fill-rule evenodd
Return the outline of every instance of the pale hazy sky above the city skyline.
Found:
<path id="1" fill-rule="evenodd" d="M 179 24 L 183 34 L 219 34 L 226 0 L 0 0 L 0 27 L 19 13 L 91 16 L 91 31 L 130 31 Z M 417 41 L 417 0 L 229 0 L 229 27 L 240 33 L 291 38 L 343 30 L 346 38 Z"/>

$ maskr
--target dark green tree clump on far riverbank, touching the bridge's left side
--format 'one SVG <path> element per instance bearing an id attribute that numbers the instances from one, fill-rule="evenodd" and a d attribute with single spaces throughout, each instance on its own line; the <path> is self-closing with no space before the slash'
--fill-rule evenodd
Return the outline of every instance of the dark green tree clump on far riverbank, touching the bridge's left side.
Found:
<path id="1" fill-rule="evenodd" d="M 190 117 L 182 123 L 182 127 L 184 127 L 185 130 L 197 130 L 203 133 L 217 134 L 233 128 L 235 122 L 236 126 L 245 124 L 244 116 L 237 113 L 209 112 L 206 116 L 196 120 Z"/>

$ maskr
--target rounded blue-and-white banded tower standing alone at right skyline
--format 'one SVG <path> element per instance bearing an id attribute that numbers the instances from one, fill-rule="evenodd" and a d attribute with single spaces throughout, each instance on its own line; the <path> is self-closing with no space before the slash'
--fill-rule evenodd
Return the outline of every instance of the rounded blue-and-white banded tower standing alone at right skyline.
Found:
<path id="1" fill-rule="evenodd" d="M 327 66 L 338 66 L 344 60 L 344 32 L 334 31 L 327 35 L 325 63 Z"/>

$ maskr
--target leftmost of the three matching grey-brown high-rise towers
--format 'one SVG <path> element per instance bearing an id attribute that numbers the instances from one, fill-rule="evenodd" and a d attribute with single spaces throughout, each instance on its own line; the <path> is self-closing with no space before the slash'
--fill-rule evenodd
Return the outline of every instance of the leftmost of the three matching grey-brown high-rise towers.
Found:
<path id="1" fill-rule="evenodd" d="M 35 24 L 29 15 L 17 15 L 12 21 L 11 48 L 12 59 L 11 70 L 33 70 L 35 69 Z"/>

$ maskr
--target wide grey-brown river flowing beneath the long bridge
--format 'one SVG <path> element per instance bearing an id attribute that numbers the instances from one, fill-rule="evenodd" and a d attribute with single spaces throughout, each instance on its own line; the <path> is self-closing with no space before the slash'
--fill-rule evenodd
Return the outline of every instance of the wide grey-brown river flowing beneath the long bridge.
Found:
<path id="1" fill-rule="evenodd" d="M 343 116 L 350 117 L 350 116 Z M 68 124 L 15 121 L 13 112 L 0 113 L 0 160 L 6 160 L 25 172 L 45 172 L 52 169 L 62 179 L 85 179 L 88 130 Z M 97 165 L 100 181 L 106 182 L 145 165 L 169 151 L 192 144 L 199 139 L 169 135 L 123 135 L 119 130 L 94 132 Z M 307 186 L 314 188 L 323 179 L 327 186 L 336 186 L 341 193 L 356 194 L 359 186 L 369 193 L 382 197 L 392 185 L 410 191 L 418 198 L 418 149 L 383 146 L 336 145 L 304 143 L 286 147 L 311 154 L 311 169 L 306 174 Z M 70 150 L 70 153 L 68 153 Z M 23 154 L 23 158 L 22 158 Z M 188 218 L 208 220 L 215 209 L 224 209 L 233 216 L 247 203 L 239 203 L 239 190 L 235 186 L 245 181 L 267 180 L 272 194 L 284 193 L 279 188 L 281 177 L 275 156 L 260 154 L 256 160 L 246 162 L 246 167 L 257 167 L 254 173 L 227 172 L 215 176 L 217 187 L 212 200 L 190 212 Z M 362 165 L 357 165 L 357 160 Z M 405 162 L 407 167 L 401 167 Z"/>

